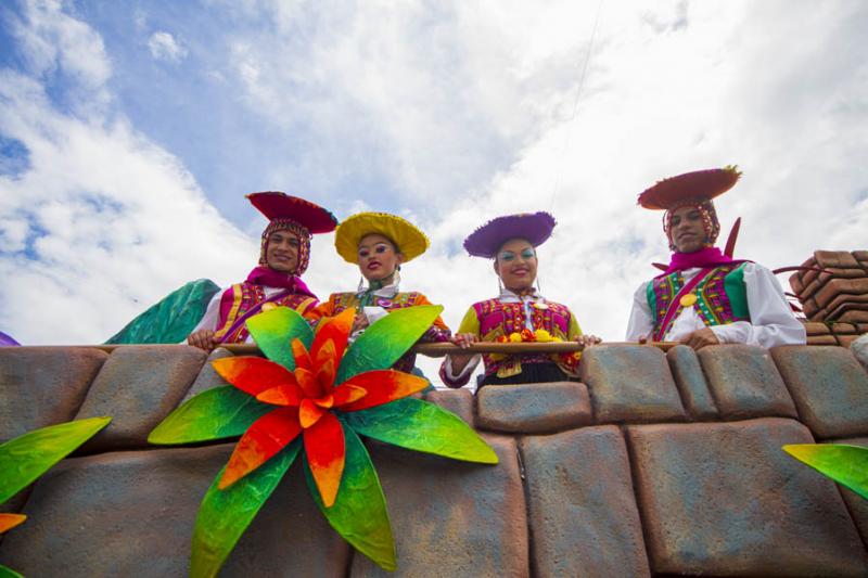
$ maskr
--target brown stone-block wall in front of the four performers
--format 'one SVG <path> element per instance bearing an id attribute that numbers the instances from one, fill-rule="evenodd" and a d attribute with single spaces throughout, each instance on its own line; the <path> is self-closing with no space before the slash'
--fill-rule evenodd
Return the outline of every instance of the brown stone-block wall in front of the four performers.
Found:
<path id="1" fill-rule="evenodd" d="M 225 350 L 212 357 L 230 355 Z M 0 349 L 0 440 L 113 423 L 3 504 L 28 576 L 183 576 L 199 501 L 231 444 L 149 447 L 220 383 L 186 346 Z M 868 575 L 868 502 L 784 444 L 868 445 L 868 374 L 842 347 L 600 346 L 582 383 L 438 390 L 498 466 L 370 444 L 400 576 Z M 380 576 L 329 528 L 295 464 L 224 576 Z"/>

